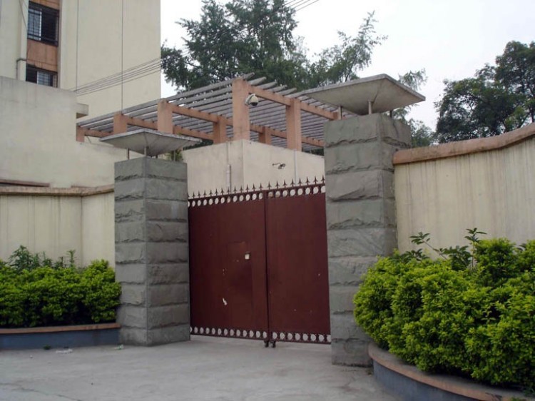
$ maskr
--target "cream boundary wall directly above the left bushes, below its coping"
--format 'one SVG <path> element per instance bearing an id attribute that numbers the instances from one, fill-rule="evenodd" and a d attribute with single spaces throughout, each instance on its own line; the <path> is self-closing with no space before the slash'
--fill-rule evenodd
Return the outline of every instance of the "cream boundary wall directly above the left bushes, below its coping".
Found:
<path id="1" fill-rule="evenodd" d="M 115 263 L 113 193 L 95 196 L 0 195 L 0 259 L 24 245 L 56 259 Z"/>

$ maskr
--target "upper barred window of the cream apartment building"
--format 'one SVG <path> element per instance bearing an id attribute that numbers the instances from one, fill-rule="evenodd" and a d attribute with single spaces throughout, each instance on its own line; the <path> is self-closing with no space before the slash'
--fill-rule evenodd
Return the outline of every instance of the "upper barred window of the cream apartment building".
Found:
<path id="1" fill-rule="evenodd" d="M 30 1 L 28 39 L 58 46 L 59 11 Z"/>

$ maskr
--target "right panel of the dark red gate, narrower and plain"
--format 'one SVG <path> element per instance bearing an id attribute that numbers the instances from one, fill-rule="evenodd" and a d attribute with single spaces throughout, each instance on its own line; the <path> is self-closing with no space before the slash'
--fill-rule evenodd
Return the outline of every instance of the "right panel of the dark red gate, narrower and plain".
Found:
<path id="1" fill-rule="evenodd" d="M 314 188 L 317 193 L 266 200 L 269 323 L 276 340 L 327 342 L 330 335 L 325 193 Z"/>

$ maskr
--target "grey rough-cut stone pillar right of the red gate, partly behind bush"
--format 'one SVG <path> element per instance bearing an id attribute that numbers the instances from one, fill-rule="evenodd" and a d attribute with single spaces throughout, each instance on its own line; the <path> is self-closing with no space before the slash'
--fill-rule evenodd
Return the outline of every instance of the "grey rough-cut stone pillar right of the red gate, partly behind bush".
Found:
<path id="1" fill-rule="evenodd" d="M 382 114 L 325 125 L 325 183 L 332 362 L 370 365 L 369 337 L 355 324 L 352 298 L 362 273 L 397 247 L 395 151 L 410 130 Z"/>

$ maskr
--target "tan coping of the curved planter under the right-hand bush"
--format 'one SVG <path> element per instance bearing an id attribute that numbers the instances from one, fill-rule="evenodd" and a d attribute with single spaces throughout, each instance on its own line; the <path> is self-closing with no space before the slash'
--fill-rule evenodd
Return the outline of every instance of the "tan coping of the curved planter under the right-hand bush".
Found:
<path id="1" fill-rule="evenodd" d="M 433 375 L 431 373 L 422 372 L 417 367 L 407 365 L 407 363 L 400 360 L 398 357 L 389 352 L 380 349 L 374 343 L 370 342 L 368 345 L 368 355 L 379 365 L 386 367 L 393 372 L 408 377 L 416 382 L 421 382 L 425 385 L 435 387 L 439 390 L 452 392 L 464 397 L 474 398 L 481 401 L 512 401 L 517 400 L 535 400 L 531 397 L 526 397 L 521 392 L 514 390 L 502 390 L 496 387 L 481 385 L 472 380 L 464 379 L 463 377 L 454 377 L 449 375 Z"/>

